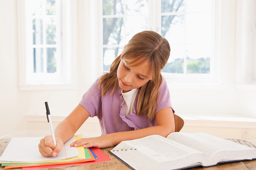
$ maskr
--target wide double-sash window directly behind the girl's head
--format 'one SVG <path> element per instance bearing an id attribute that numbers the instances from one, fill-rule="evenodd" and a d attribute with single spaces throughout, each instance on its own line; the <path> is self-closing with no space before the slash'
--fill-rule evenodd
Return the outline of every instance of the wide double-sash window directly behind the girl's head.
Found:
<path id="1" fill-rule="evenodd" d="M 153 30 L 165 37 L 171 47 L 163 72 L 209 74 L 212 6 L 211 0 L 103 0 L 104 71 L 109 70 L 134 34 Z"/>

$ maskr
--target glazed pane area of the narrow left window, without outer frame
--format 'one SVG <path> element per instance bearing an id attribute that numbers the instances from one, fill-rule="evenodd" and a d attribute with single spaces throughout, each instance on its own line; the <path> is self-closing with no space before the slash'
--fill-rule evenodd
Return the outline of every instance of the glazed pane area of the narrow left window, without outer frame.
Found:
<path id="1" fill-rule="evenodd" d="M 33 58 L 29 59 L 33 62 L 33 73 L 56 73 L 59 69 L 61 47 L 57 44 L 61 42 L 61 34 L 58 33 L 61 28 L 60 11 L 56 10 L 56 2 L 53 1 L 30 1 L 26 3 L 27 8 L 31 10 L 27 14 L 28 37 L 32 34 L 33 43 L 28 43 L 28 47 L 32 47 Z M 30 25 L 31 24 L 31 25 Z M 32 29 L 32 31 L 31 31 Z M 57 31 L 57 32 L 56 32 Z M 30 61 L 30 62 L 31 62 Z"/>

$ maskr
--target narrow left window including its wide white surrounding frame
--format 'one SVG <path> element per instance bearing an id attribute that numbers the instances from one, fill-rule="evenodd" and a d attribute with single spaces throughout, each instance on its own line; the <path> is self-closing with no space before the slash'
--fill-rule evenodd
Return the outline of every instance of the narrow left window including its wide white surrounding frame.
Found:
<path id="1" fill-rule="evenodd" d="M 18 23 L 20 85 L 69 84 L 69 1 L 23 0 L 18 3 L 24 7 L 19 6 Z"/>

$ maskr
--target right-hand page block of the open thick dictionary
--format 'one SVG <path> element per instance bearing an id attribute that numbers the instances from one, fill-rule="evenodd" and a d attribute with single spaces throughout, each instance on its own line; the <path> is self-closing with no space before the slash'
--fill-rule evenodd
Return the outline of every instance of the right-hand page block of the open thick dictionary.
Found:
<path id="1" fill-rule="evenodd" d="M 206 133 L 172 133 L 168 139 L 198 150 L 209 156 L 206 165 L 221 161 L 256 158 L 256 149 Z M 218 153 L 218 154 L 216 154 Z"/>

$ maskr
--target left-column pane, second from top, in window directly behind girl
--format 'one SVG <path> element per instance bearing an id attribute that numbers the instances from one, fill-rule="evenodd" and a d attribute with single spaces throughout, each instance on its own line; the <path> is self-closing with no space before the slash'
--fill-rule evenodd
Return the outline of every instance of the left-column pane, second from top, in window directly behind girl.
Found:
<path id="1" fill-rule="evenodd" d="M 123 18 L 103 18 L 103 44 L 120 44 L 124 37 Z"/>

